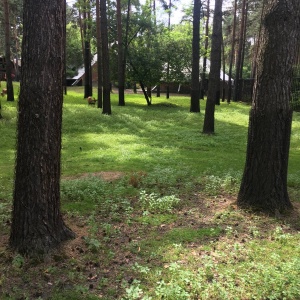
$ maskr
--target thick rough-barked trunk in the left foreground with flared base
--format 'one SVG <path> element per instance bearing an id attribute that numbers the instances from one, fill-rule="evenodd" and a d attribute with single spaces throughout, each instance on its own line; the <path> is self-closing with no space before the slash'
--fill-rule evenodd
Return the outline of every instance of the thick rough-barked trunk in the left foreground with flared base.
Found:
<path id="1" fill-rule="evenodd" d="M 10 246 L 40 255 L 74 237 L 60 213 L 63 1 L 25 0 Z"/>

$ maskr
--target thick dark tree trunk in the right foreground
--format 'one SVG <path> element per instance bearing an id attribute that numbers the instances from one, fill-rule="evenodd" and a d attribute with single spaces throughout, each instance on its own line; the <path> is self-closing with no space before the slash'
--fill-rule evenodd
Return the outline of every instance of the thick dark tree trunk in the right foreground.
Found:
<path id="1" fill-rule="evenodd" d="M 300 32 L 299 0 L 270 0 L 263 17 L 238 205 L 269 213 L 292 208 L 287 172 L 292 69 Z"/>

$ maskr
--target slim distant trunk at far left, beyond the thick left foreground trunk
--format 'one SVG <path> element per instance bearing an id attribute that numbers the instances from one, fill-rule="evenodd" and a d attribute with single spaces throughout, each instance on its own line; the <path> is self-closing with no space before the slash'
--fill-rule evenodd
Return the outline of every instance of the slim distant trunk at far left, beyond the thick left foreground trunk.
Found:
<path id="1" fill-rule="evenodd" d="M 12 64 L 10 60 L 10 23 L 8 0 L 3 0 L 5 20 L 5 64 L 6 64 L 6 89 L 7 101 L 15 101 L 14 87 L 12 84 Z"/>

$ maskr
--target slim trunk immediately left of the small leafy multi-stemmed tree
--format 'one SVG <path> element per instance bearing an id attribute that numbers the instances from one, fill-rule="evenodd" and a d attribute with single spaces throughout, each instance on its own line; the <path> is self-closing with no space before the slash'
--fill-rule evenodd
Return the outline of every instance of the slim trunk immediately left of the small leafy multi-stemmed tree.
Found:
<path id="1" fill-rule="evenodd" d="M 118 31 L 118 84 L 119 106 L 125 105 L 125 65 L 123 52 L 121 0 L 117 0 L 117 31 Z"/>

